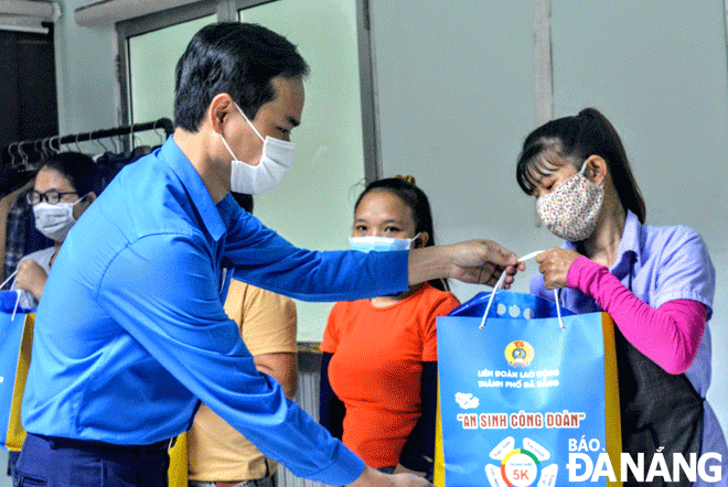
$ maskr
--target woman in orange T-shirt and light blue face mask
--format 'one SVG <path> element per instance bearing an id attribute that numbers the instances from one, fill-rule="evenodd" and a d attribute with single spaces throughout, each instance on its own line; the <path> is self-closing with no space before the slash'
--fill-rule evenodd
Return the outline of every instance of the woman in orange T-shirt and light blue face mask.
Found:
<path id="1" fill-rule="evenodd" d="M 355 250 L 435 245 L 432 215 L 411 176 L 370 184 L 354 207 Z M 397 296 L 336 303 L 321 350 L 320 422 L 383 472 L 431 475 L 437 404 L 436 317 L 460 303 L 438 280 Z"/>

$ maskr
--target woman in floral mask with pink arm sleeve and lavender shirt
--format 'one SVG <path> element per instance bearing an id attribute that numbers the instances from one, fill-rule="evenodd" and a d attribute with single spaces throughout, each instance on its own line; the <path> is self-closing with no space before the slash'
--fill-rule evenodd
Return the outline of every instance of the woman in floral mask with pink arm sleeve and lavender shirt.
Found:
<path id="1" fill-rule="evenodd" d="M 622 142 L 593 108 L 547 122 L 523 144 L 516 178 L 545 226 L 565 240 L 540 253 L 531 291 L 571 311 L 606 311 L 617 325 L 622 450 L 649 466 L 662 452 L 721 455 L 722 479 L 682 475 L 670 485 L 728 485 L 728 448 L 705 401 L 710 382 L 715 271 L 700 236 L 645 225 L 645 205 Z M 646 468 L 646 467 L 645 467 Z M 656 476 L 652 483 L 663 485 Z M 630 477 L 624 485 L 636 485 Z"/>

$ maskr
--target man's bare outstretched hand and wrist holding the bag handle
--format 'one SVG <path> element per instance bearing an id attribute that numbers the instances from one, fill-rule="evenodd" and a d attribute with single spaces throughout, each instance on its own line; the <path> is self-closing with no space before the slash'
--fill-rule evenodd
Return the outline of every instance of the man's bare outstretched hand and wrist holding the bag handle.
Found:
<path id="1" fill-rule="evenodd" d="M 503 289 L 508 289 L 513 275 L 525 269 L 515 253 L 491 240 L 469 240 L 409 251 L 410 285 L 440 278 L 495 285 L 506 272 Z"/>

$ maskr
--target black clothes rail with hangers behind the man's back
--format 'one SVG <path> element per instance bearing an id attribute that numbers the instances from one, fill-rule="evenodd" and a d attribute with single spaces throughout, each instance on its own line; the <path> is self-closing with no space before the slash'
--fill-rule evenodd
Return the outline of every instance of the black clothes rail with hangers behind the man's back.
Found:
<path id="1" fill-rule="evenodd" d="M 150 122 L 133 123 L 131 126 L 95 130 L 92 132 L 77 133 L 73 136 L 51 136 L 41 139 L 23 140 L 9 143 L 0 151 L 0 154 L 2 155 L 3 161 L 6 158 L 9 158 L 11 161 L 19 159 L 22 162 L 22 165 L 31 166 L 25 169 L 33 169 L 29 158 L 30 154 L 43 155 L 49 152 L 60 151 L 61 145 L 78 144 L 79 142 L 108 139 L 114 137 L 133 136 L 136 133 L 148 130 L 164 130 L 165 137 L 169 137 L 174 131 L 174 125 L 169 118 L 160 118 L 159 120 Z M 131 141 L 131 144 L 133 144 L 133 140 Z"/>

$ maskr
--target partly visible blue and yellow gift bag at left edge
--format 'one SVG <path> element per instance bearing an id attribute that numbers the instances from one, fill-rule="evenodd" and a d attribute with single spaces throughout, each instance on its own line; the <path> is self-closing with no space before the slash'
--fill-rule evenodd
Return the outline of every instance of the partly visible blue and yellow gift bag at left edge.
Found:
<path id="1" fill-rule="evenodd" d="M 20 451 L 25 431 L 20 403 L 33 346 L 35 313 L 15 307 L 17 291 L 0 291 L 0 444 Z"/>

